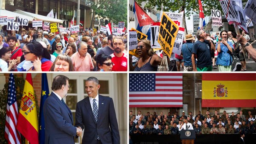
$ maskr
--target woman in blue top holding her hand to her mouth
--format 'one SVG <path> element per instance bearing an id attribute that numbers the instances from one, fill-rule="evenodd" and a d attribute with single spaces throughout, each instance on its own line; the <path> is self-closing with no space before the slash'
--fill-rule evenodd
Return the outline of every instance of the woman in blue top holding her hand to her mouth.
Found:
<path id="1" fill-rule="evenodd" d="M 218 51 L 216 64 L 218 65 L 218 69 L 220 72 L 231 72 L 232 49 L 234 48 L 233 44 L 230 41 L 227 41 L 227 39 L 227 31 L 221 31 L 221 34 L 218 37 L 218 43 L 216 44 L 216 49 Z"/>

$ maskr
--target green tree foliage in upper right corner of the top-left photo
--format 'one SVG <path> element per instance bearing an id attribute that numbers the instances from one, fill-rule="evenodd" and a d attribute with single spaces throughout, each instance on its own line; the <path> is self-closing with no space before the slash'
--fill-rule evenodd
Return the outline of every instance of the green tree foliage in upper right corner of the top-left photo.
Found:
<path id="1" fill-rule="evenodd" d="M 127 0 L 94 0 L 92 9 L 102 18 L 108 18 L 108 22 L 118 24 L 125 22 L 127 26 Z"/>

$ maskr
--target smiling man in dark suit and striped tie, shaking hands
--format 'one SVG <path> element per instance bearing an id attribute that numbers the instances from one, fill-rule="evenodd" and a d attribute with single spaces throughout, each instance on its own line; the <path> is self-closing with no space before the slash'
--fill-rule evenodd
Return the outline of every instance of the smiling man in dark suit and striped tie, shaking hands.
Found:
<path id="1" fill-rule="evenodd" d="M 99 88 L 97 78 L 87 78 L 88 97 L 76 104 L 75 126 L 84 130 L 82 144 L 120 144 L 113 100 L 99 95 Z"/>

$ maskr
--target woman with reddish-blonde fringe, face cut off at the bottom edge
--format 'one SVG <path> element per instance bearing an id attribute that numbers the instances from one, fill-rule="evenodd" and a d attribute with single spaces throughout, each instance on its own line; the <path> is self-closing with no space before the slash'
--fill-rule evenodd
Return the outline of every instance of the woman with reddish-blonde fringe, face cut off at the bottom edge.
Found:
<path id="1" fill-rule="evenodd" d="M 58 55 L 49 71 L 52 71 L 52 72 L 74 71 L 71 58 L 68 55 L 63 55 L 63 54 Z"/>

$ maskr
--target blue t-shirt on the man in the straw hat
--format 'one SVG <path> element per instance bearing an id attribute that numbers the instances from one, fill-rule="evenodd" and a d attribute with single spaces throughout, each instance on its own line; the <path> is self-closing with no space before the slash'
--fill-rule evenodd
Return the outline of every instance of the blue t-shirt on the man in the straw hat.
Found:
<path id="1" fill-rule="evenodd" d="M 181 47 L 183 60 L 184 60 L 184 66 L 192 66 L 192 47 L 194 43 L 184 43 Z"/>

